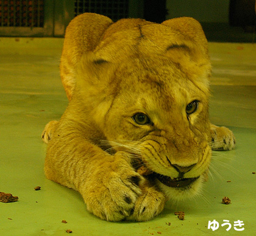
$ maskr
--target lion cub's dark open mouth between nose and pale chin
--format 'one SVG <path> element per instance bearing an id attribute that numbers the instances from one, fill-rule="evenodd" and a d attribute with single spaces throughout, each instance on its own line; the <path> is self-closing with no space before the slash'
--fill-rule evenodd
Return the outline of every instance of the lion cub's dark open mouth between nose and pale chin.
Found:
<path id="1" fill-rule="evenodd" d="M 196 179 L 196 178 L 171 178 L 169 176 L 160 175 L 155 173 L 156 178 L 162 182 L 162 184 L 165 184 L 168 187 L 174 187 L 174 188 L 184 188 L 190 186 Z"/>

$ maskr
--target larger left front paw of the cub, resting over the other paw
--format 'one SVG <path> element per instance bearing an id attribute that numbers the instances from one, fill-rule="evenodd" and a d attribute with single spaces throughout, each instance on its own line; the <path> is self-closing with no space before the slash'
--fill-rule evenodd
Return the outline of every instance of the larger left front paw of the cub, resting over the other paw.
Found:
<path id="1" fill-rule="evenodd" d="M 141 195 L 140 187 L 132 179 L 142 180 L 137 173 L 131 172 L 127 175 L 113 172 L 109 177 L 105 176 L 102 183 L 98 183 L 99 186 L 94 186 L 94 189 L 98 189 L 96 192 L 90 190 L 85 194 L 87 209 L 103 220 L 126 220 Z"/>

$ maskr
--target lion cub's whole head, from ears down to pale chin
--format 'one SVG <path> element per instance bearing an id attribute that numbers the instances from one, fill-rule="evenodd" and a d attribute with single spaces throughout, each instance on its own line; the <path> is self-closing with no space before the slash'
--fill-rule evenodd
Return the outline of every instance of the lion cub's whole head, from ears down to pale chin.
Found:
<path id="1" fill-rule="evenodd" d="M 205 45 L 168 27 L 116 33 L 82 61 L 76 94 L 97 137 L 141 158 L 180 198 L 198 192 L 210 163 L 210 62 Z"/>

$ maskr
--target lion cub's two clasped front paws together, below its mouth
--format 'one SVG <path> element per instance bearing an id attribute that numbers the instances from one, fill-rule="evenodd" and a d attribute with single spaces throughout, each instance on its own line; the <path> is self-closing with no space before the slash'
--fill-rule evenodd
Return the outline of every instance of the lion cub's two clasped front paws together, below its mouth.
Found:
<path id="1" fill-rule="evenodd" d="M 108 221 L 145 221 L 162 211 L 165 197 L 153 188 L 141 189 L 146 180 L 129 161 L 124 158 L 104 165 L 80 191 L 90 212 Z"/>

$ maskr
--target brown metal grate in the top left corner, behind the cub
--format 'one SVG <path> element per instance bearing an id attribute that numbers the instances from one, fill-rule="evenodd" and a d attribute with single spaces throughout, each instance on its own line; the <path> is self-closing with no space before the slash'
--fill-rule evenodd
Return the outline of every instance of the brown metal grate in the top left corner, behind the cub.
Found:
<path id="1" fill-rule="evenodd" d="M 0 0 L 0 26 L 43 27 L 44 0 Z"/>

